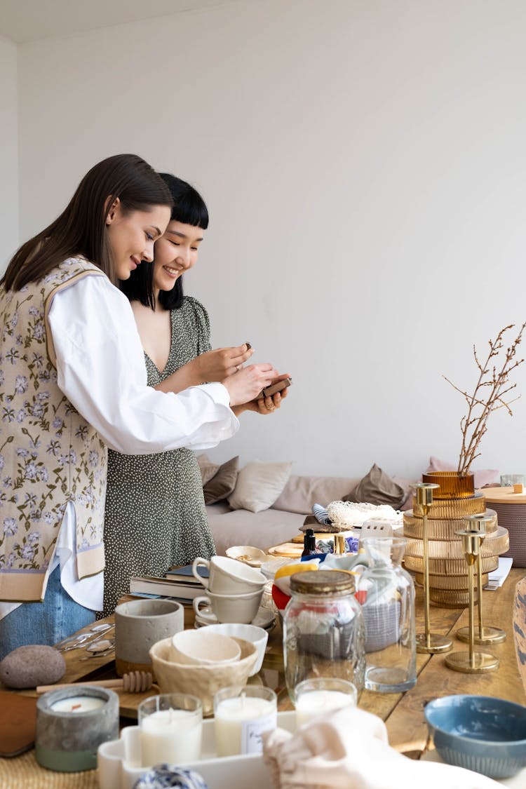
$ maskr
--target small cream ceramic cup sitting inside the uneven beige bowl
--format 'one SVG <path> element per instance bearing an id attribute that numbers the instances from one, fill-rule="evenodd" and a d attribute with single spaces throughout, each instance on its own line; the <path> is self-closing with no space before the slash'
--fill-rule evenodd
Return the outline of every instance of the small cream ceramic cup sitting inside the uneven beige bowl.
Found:
<path id="1" fill-rule="evenodd" d="M 186 665 L 210 666 L 233 663 L 241 657 L 241 647 L 228 634 L 210 630 L 181 630 L 172 638 L 170 660 Z"/>

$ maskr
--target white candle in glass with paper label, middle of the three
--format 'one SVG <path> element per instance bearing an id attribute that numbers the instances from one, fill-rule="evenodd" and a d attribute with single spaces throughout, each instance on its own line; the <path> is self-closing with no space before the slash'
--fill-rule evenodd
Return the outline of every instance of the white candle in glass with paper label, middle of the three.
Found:
<path id="1" fill-rule="evenodd" d="M 237 696 L 220 701 L 215 710 L 215 747 L 218 756 L 261 753 L 263 731 L 277 725 L 276 702 Z"/>

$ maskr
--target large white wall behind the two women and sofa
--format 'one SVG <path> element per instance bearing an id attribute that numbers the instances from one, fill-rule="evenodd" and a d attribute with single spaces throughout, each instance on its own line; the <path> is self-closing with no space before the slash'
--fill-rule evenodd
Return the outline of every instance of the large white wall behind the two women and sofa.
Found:
<path id="1" fill-rule="evenodd" d="M 24 44 L 22 235 L 106 155 L 188 178 L 215 346 L 294 379 L 212 454 L 416 476 L 460 451 L 442 373 L 526 319 L 525 39 L 522 0 L 266 0 Z M 514 411 L 476 465 L 526 471 Z"/>

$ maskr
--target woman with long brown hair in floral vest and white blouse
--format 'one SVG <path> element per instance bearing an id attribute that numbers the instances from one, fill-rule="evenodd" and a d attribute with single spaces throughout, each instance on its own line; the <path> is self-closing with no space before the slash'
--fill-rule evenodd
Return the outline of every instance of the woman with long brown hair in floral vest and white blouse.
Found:
<path id="1" fill-rule="evenodd" d="M 143 159 L 104 159 L 0 283 L 0 658 L 52 645 L 102 608 L 106 445 L 215 446 L 237 429 L 229 406 L 276 374 L 250 365 L 181 394 L 147 386 L 114 282 L 153 260 L 171 204 Z"/>

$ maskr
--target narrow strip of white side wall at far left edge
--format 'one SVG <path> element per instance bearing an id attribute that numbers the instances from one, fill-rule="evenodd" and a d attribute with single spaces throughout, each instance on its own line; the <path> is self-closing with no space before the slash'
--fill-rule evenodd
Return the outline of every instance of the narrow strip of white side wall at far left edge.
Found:
<path id="1" fill-rule="evenodd" d="M 17 47 L 0 36 L 0 273 L 18 246 Z"/>

